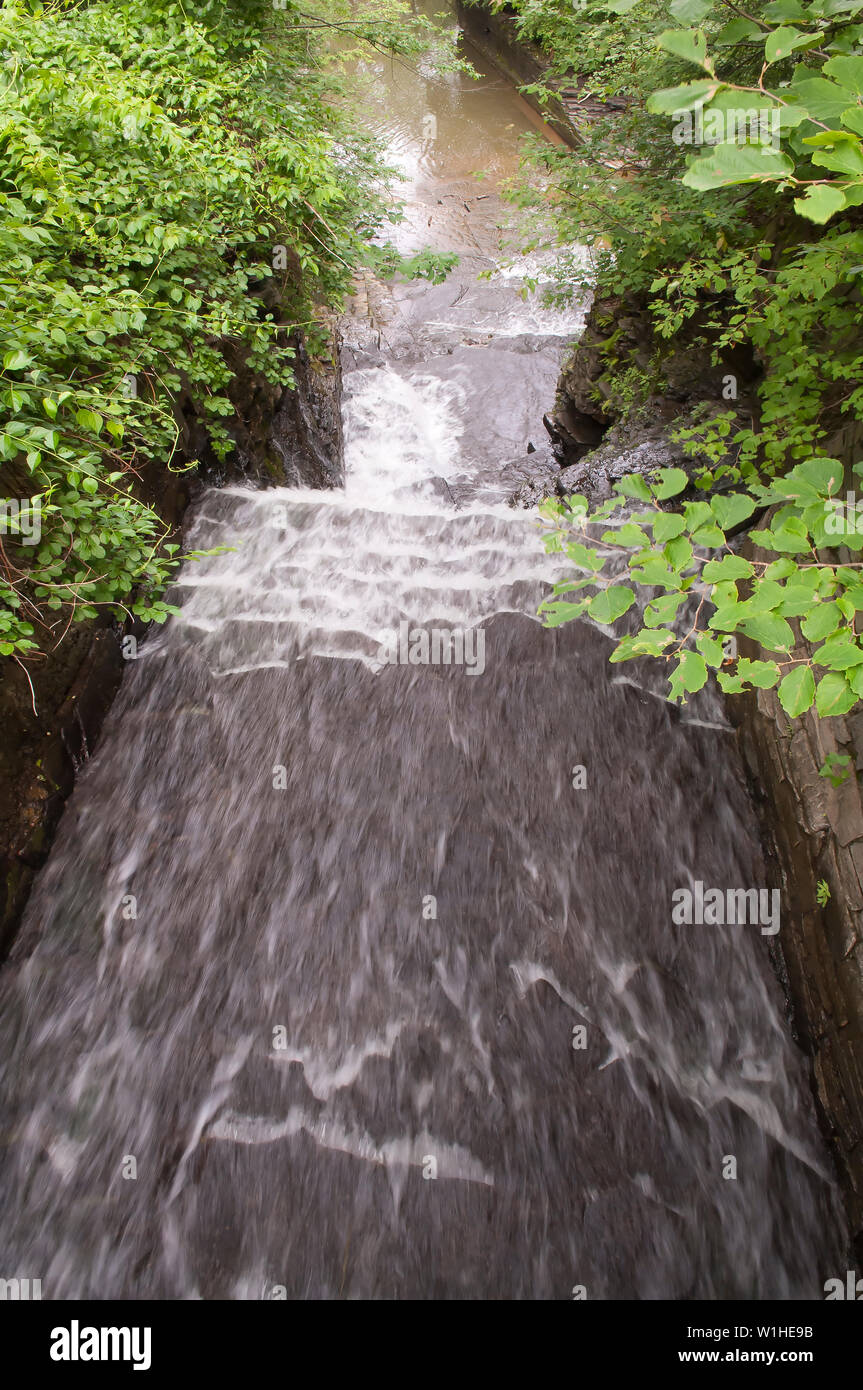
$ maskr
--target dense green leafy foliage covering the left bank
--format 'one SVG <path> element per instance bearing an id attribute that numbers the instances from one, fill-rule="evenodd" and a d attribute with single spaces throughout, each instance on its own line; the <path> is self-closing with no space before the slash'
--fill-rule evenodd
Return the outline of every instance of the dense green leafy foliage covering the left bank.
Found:
<path id="1" fill-rule="evenodd" d="M 314 11 L 314 13 L 311 13 Z M 420 43 L 396 0 L 0 8 L 0 653 L 100 609 L 164 621 L 178 563 L 143 500 L 181 416 L 233 448 L 242 364 L 290 385 L 386 208 L 320 33 Z M 427 261 L 414 267 L 435 274 Z M 195 460 L 192 460 L 193 466 Z M 63 612 L 57 612 L 63 610 Z"/>

